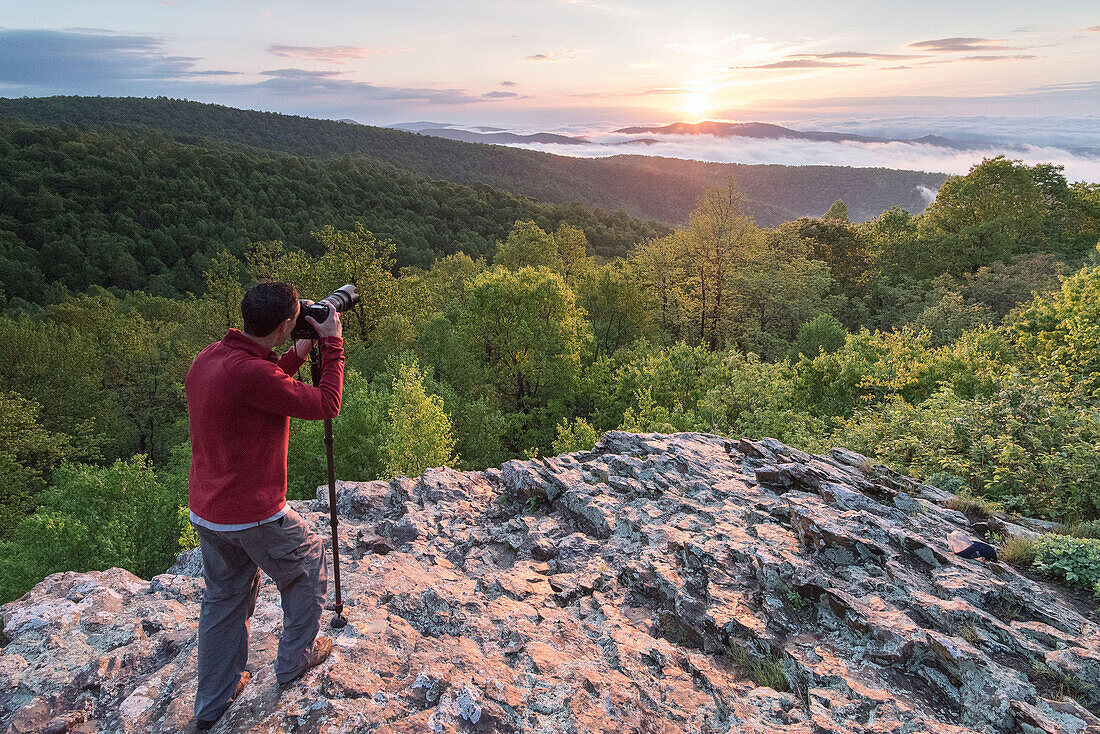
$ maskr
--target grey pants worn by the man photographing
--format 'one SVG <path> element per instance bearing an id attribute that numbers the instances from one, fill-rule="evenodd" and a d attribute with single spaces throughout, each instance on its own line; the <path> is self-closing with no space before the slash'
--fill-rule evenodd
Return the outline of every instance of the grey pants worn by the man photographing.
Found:
<path id="1" fill-rule="evenodd" d="M 324 540 L 301 516 L 243 530 L 194 526 L 202 554 L 206 591 L 199 613 L 199 680 L 195 716 L 212 721 L 229 708 L 249 660 L 249 620 L 256 609 L 260 569 L 283 596 L 283 636 L 275 678 L 283 683 L 309 662 L 328 594 Z"/>

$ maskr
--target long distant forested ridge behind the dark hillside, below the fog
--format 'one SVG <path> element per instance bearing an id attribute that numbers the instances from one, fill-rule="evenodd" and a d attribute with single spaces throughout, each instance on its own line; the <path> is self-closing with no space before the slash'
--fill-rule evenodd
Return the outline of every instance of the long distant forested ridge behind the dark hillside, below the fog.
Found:
<path id="1" fill-rule="evenodd" d="M 899 206 L 924 209 L 919 187 L 935 190 L 943 174 L 888 168 L 703 163 L 644 155 L 576 158 L 417 135 L 400 130 L 239 110 L 173 99 L 0 98 L 0 114 L 82 128 L 140 125 L 182 142 L 216 139 L 296 155 L 369 155 L 431 178 L 488 184 L 542 201 L 681 223 L 703 191 L 736 177 L 758 224 L 821 216 L 844 198 L 854 220 Z M 362 163 L 359 163 L 362 165 Z"/>

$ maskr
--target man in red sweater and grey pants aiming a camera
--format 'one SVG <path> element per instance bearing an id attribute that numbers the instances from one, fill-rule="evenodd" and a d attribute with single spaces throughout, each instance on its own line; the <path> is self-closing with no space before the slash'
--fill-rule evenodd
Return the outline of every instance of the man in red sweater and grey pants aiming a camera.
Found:
<path id="1" fill-rule="evenodd" d="M 199 536 L 206 591 L 199 614 L 197 728 L 213 726 L 249 682 L 249 620 L 260 569 L 283 601 L 279 683 L 320 665 L 332 640 L 318 637 L 328 593 L 323 539 L 286 505 L 290 418 L 340 412 L 343 339 L 340 315 L 318 324 L 322 375 L 316 387 L 293 375 L 309 354 L 300 339 L 276 358 L 298 319 L 297 289 L 263 281 L 241 302 L 244 330 L 230 329 L 199 352 L 184 382 L 191 436 L 188 504 Z"/>

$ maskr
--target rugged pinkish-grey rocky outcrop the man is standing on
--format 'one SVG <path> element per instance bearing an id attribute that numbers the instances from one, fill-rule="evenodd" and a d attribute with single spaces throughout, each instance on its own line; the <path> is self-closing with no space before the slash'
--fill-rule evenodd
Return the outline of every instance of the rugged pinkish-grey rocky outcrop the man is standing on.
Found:
<path id="1" fill-rule="evenodd" d="M 215 731 L 1096 731 L 1094 606 L 952 555 L 949 499 L 701 434 L 342 483 L 348 626 L 280 690 L 266 582 Z M 323 499 L 296 508 L 328 534 Z M 59 573 L 6 605 L 0 731 L 189 731 L 196 574 Z"/>

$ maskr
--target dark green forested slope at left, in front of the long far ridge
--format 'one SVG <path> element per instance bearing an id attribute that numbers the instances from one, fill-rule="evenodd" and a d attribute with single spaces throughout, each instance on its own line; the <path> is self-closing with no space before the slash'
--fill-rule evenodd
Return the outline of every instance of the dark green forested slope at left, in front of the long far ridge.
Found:
<path id="1" fill-rule="evenodd" d="M 150 130 L 79 130 L 0 118 L 0 282 L 44 303 L 59 286 L 179 296 L 222 249 L 279 240 L 319 254 L 310 231 L 356 222 L 397 243 L 396 264 L 492 255 L 517 219 L 584 230 L 626 254 L 667 228 L 623 212 L 542 204 L 431 180 L 367 156 L 307 157 Z"/>

